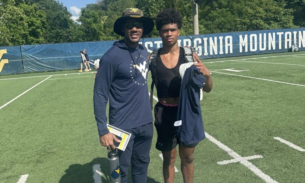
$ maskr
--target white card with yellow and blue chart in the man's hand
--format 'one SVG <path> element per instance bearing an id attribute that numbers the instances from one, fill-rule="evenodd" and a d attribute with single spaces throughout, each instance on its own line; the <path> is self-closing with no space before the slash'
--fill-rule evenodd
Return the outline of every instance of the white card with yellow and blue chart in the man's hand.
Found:
<path id="1" fill-rule="evenodd" d="M 121 140 L 120 143 L 116 143 L 114 141 L 114 146 L 117 149 L 120 149 L 120 150 L 124 151 L 127 147 L 127 144 L 128 144 L 129 139 L 131 137 L 131 134 L 124 131 L 124 130 L 121 130 L 117 127 L 114 127 L 110 124 L 107 124 L 107 127 L 108 127 L 108 130 L 110 131 L 110 133 L 114 134 L 119 140 Z"/>

